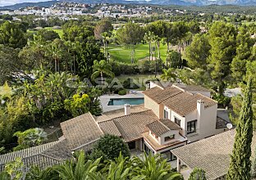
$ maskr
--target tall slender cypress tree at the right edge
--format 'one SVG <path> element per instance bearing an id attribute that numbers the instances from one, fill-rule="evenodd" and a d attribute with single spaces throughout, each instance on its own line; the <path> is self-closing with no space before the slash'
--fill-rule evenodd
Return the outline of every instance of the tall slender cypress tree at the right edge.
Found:
<path id="1" fill-rule="evenodd" d="M 231 163 L 226 175 L 227 180 L 249 180 L 251 169 L 251 143 L 253 138 L 252 80 L 249 79 L 240 112 L 239 122 L 235 128 L 235 143 Z"/>

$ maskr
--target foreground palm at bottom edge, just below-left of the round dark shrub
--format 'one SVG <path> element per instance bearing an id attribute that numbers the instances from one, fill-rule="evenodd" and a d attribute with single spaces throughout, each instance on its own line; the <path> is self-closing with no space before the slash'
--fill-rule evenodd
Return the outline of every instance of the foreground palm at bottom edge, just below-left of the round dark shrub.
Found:
<path id="1" fill-rule="evenodd" d="M 95 160 L 85 160 L 85 152 L 80 151 L 77 162 L 67 160 L 65 164 L 56 167 L 59 177 L 63 180 L 87 180 L 97 171 L 100 158 Z"/>

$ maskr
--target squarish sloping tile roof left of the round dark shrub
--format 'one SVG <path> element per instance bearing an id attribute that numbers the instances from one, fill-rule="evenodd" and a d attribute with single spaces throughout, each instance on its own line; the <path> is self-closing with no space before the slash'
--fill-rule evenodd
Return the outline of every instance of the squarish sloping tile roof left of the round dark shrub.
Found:
<path id="1" fill-rule="evenodd" d="M 86 113 L 61 123 L 62 132 L 71 150 L 94 142 L 103 135 L 93 115 Z"/>

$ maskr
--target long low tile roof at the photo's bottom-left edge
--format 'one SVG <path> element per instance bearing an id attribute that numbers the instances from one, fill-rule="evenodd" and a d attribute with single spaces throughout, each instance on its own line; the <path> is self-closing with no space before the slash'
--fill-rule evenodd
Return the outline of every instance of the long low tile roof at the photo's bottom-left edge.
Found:
<path id="1" fill-rule="evenodd" d="M 53 146 L 57 146 L 60 142 L 49 142 L 43 145 L 30 147 L 21 151 L 14 151 L 4 155 L 0 155 L 0 172 L 4 169 L 5 164 L 10 163 L 16 158 L 20 157 L 23 161 L 25 168 L 30 168 L 31 165 L 38 165 L 41 169 L 53 166 L 53 164 L 59 164 L 62 160 L 57 160 L 56 157 L 50 155 L 44 155 L 45 151 L 48 151 Z"/>

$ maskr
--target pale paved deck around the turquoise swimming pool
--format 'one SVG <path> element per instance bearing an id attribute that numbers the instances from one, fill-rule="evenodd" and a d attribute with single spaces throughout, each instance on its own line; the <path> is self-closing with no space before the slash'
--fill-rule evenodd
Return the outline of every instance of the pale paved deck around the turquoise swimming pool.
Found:
<path id="1" fill-rule="evenodd" d="M 108 106 L 108 102 L 110 101 L 110 99 L 123 99 L 123 98 L 143 98 L 144 94 L 142 93 L 142 91 L 133 91 L 134 93 L 129 93 L 126 94 L 124 96 L 120 96 L 118 94 L 105 94 L 101 97 L 99 97 L 99 100 L 101 102 L 102 108 L 103 108 L 103 112 L 108 112 L 111 110 L 119 110 L 121 108 L 124 108 L 123 105 L 121 106 Z"/>

